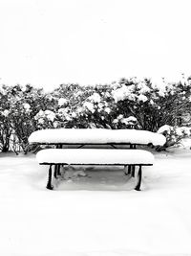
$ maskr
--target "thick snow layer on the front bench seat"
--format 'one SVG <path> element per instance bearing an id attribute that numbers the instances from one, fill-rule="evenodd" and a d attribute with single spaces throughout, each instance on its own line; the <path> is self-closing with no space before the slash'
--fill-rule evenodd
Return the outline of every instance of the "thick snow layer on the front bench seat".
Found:
<path id="1" fill-rule="evenodd" d="M 154 155 L 141 150 L 48 149 L 36 154 L 38 163 L 153 164 Z"/>

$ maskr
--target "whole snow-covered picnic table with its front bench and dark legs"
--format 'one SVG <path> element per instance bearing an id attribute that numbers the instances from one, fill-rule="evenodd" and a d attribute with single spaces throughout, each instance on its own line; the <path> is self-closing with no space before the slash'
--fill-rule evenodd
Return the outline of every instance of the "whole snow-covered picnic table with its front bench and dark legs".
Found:
<path id="1" fill-rule="evenodd" d="M 125 175 L 132 176 L 135 176 L 135 168 L 138 166 L 138 183 L 135 189 L 140 190 L 142 166 L 153 165 L 154 156 L 149 151 L 136 150 L 137 146 L 162 146 L 165 141 L 163 135 L 147 130 L 103 128 L 42 129 L 32 132 L 29 138 L 30 144 L 55 146 L 52 150 L 39 151 L 36 156 L 39 164 L 50 166 L 48 189 L 53 189 L 52 166 L 54 178 L 57 178 L 61 166 L 85 164 L 123 165 Z M 74 145 L 77 149 L 63 149 L 66 145 Z M 80 149 L 86 145 L 91 146 L 91 149 Z M 103 150 L 103 145 L 111 146 L 115 150 Z M 121 146 L 124 145 L 129 145 L 129 149 L 121 150 Z M 93 150 L 95 146 L 99 148 Z"/>

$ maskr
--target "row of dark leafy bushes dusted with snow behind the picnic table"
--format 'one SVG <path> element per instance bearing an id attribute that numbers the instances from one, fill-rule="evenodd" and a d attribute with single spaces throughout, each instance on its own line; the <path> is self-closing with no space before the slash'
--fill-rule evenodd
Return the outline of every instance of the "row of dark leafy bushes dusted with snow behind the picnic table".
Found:
<path id="1" fill-rule="evenodd" d="M 191 109 L 191 82 L 156 85 L 130 78 L 96 86 L 61 84 L 50 93 L 29 84 L 2 85 L 0 100 L 0 150 L 27 151 L 29 135 L 42 128 L 180 126 Z"/>

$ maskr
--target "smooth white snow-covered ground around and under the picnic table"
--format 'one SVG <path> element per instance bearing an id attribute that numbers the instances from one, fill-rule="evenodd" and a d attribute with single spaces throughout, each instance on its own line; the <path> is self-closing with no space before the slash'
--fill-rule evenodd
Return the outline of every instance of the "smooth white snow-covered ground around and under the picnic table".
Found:
<path id="1" fill-rule="evenodd" d="M 191 255 L 191 151 L 155 157 L 141 192 L 121 167 L 69 169 L 49 191 L 33 154 L 0 153 L 0 255 Z"/>

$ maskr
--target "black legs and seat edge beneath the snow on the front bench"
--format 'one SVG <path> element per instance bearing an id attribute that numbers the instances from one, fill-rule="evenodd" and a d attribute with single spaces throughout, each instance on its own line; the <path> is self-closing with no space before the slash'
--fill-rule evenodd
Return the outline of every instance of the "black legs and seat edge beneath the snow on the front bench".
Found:
<path id="1" fill-rule="evenodd" d="M 60 166 L 64 166 L 64 165 L 69 165 L 67 163 L 40 163 L 40 165 L 49 165 L 49 175 L 48 175 L 48 182 L 47 182 L 47 189 L 49 190 L 53 190 L 53 185 L 52 185 L 52 174 L 54 176 L 54 178 L 57 178 L 58 175 L 60 174 Z M 128 166 L 128 172 L 125 173 L 125 175 L 132 175 L 135 177 L 135 169 L 136 166 L 139 167 L 138 169 L 138 183 L 135 187 L 135 190 L 140 191 L 140 185 L 141 185 L 141 179 L 142 179 L 142 166 L 152 166 L 153 164 L 71 164 L 71 165 L 77 165 L 77 166 L 81 166 L 81 165 L 90 165 L 90 166 L 124 166 L 127 167 Z M 52 170 L 52 166 L 54 166 L 54 173 Z"/>

